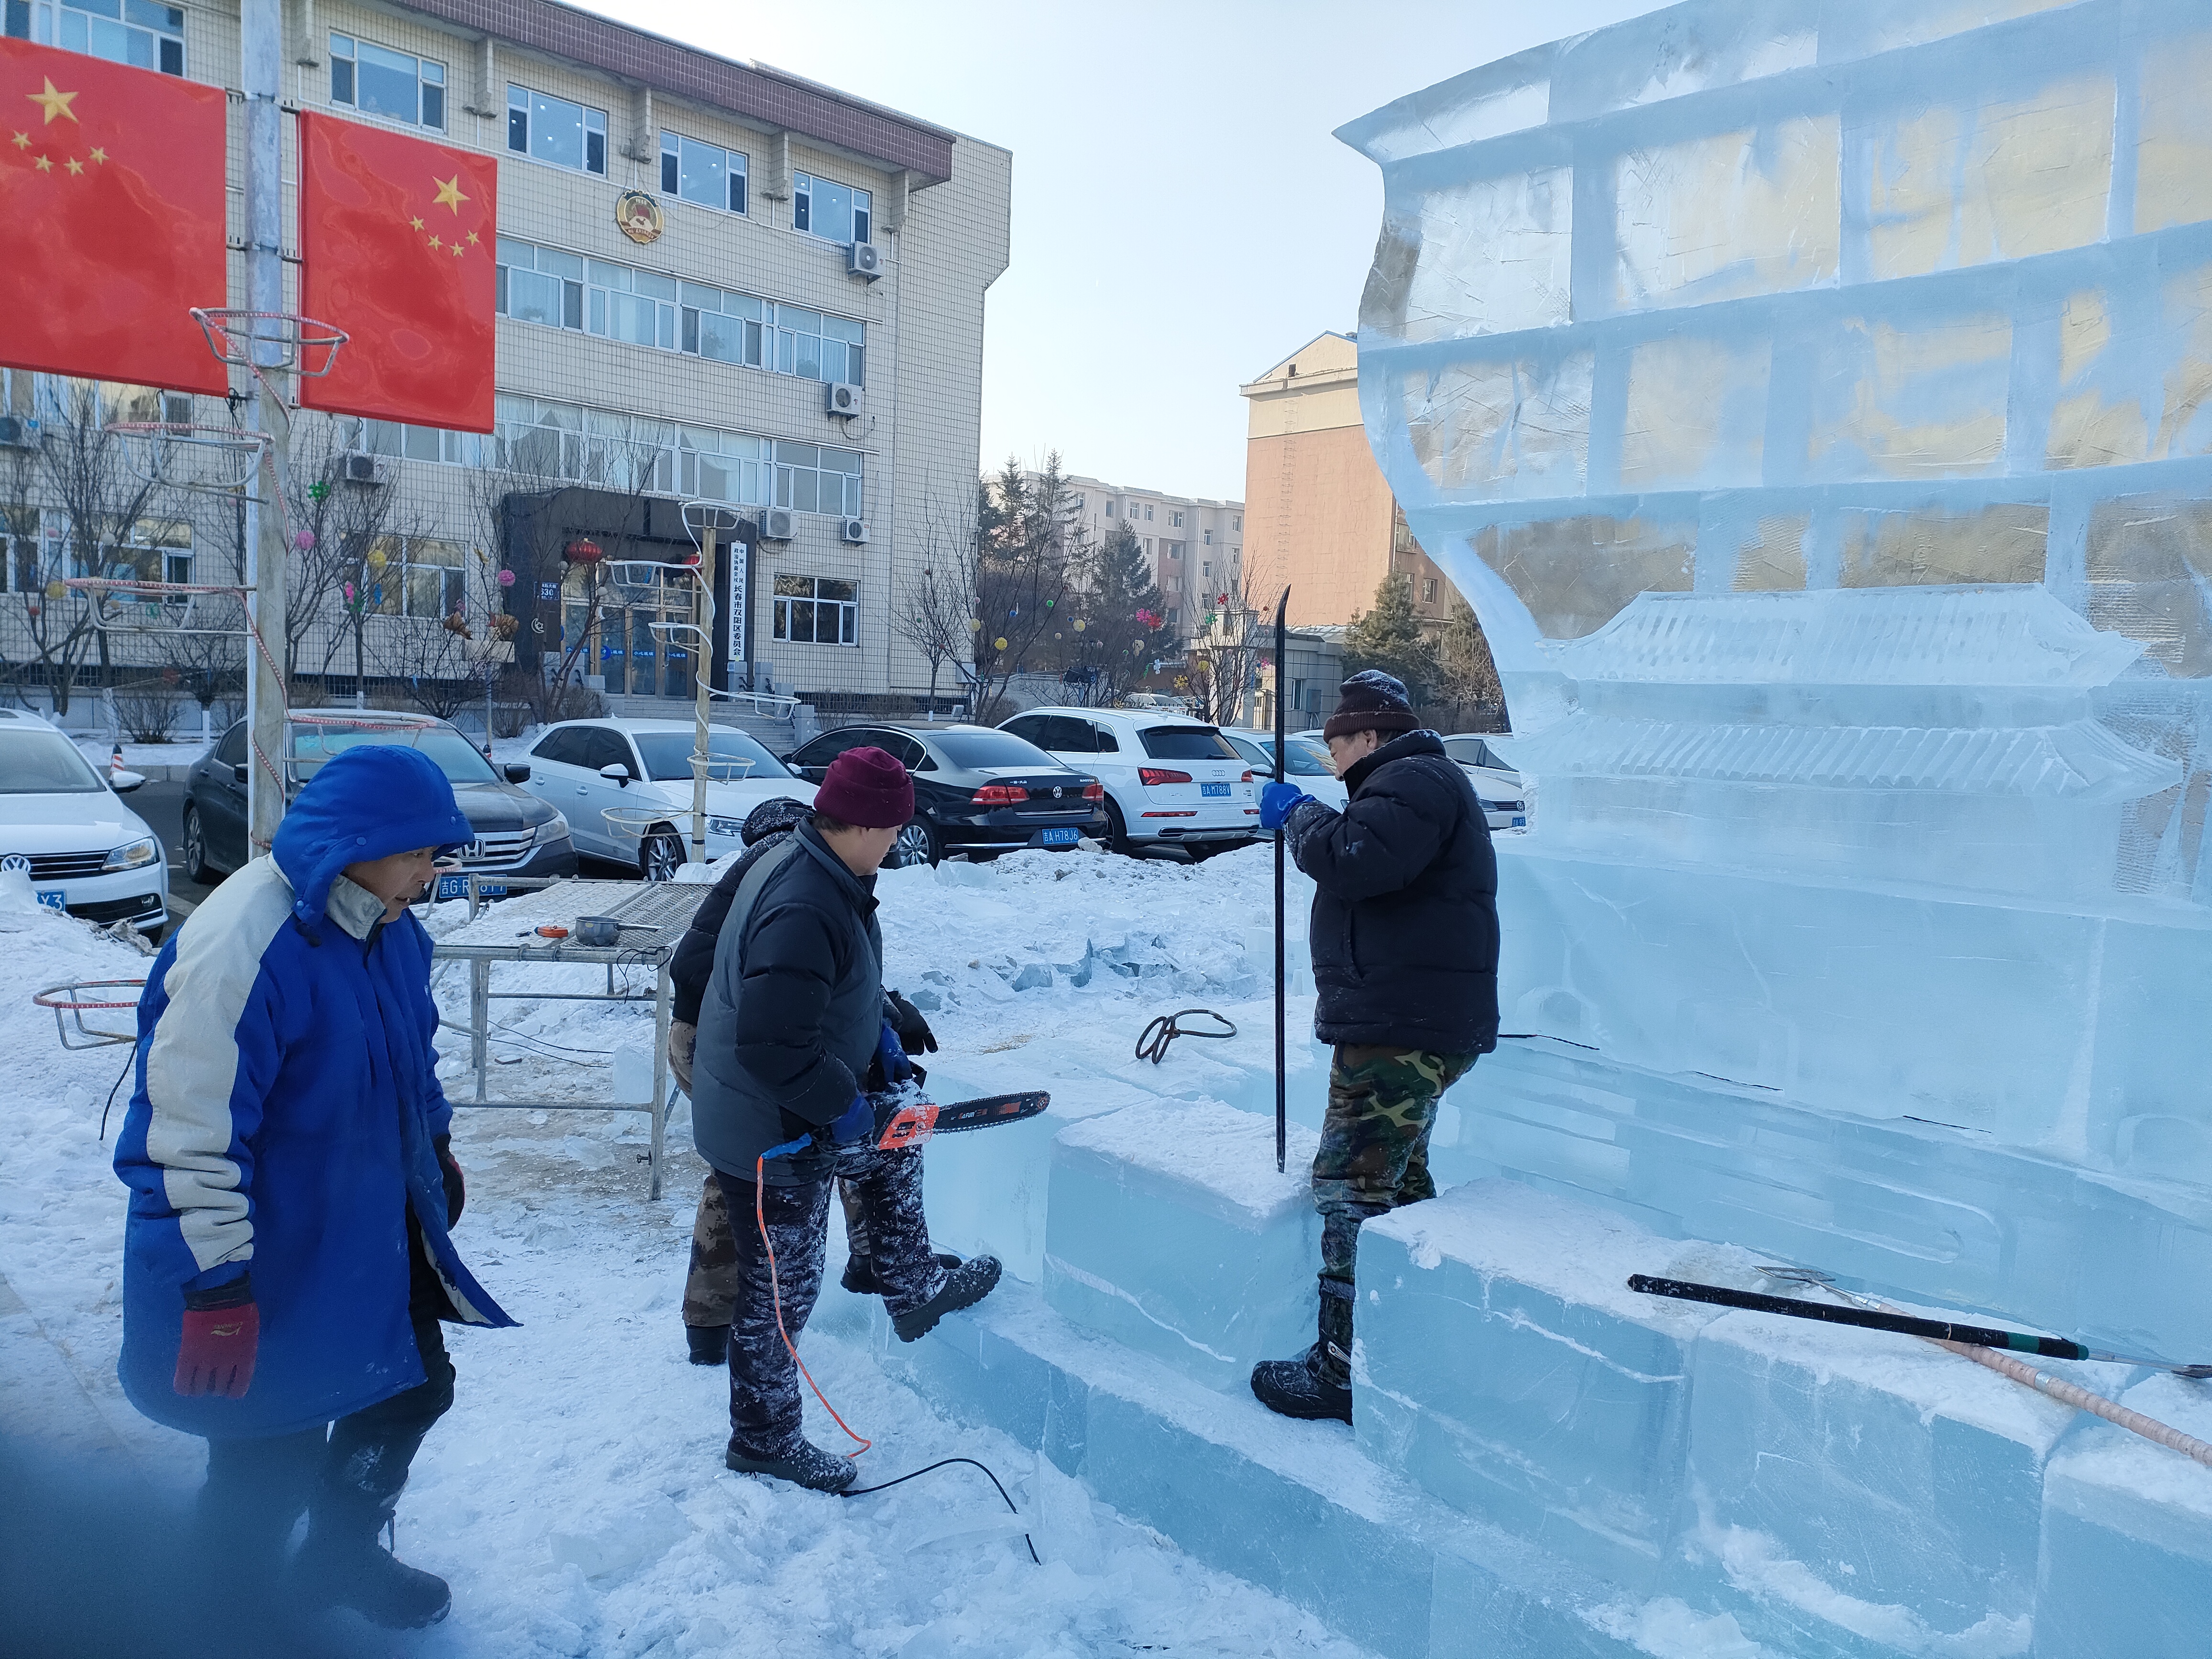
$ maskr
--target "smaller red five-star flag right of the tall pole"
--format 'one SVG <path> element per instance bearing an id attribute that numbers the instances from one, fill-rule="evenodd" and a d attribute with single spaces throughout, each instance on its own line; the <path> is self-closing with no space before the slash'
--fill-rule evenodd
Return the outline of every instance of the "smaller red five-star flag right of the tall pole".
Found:
<path id="1" fill-rule="evenodd" d="M 498 161 L 299 117 L 301 310 L 347 332 L 310 409 L 491 431 Z"/>

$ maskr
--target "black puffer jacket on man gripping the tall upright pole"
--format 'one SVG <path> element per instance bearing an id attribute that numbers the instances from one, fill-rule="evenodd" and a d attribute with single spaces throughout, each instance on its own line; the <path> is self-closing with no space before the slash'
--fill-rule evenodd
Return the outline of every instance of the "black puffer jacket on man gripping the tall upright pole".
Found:
<path id="1" fill-rule="evenodd" d="M 1447 1055 L 1498 1046 L 1498 856 L 1436 732 L 1391 739 L 1345 774 L 1352 801 L 1283 825 L 1314 878 L 1314 1035 Z"/>

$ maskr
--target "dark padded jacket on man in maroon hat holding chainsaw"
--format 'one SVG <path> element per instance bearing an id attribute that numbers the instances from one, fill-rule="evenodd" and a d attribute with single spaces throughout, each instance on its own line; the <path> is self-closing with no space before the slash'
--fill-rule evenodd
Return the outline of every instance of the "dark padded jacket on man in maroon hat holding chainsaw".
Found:
<path id="1" fill-rule="evenodd" d="M 763 1150 L 852 1106 L 883 1033 L 876 878 L 854 876 L 812 823 L 761 852 L 779 854 L 743 927 L 721 929 L 692 1053 L 699 1157 L 748 1181 Z M 827 1150 L 810 1150 L 768 1179 L 827 1172 Z"/>

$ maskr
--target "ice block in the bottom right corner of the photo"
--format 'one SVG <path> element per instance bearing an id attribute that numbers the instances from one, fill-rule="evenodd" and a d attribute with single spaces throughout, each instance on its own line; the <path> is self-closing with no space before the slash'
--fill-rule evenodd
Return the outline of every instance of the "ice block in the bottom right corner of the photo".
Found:
<path id="1" fill-rule="evenodd" d="M 2154 1376 L 2121 1405 L 2212 1440 L 2212 1387 Z M 2212 1646 L 2212 1469 L 2084 1420 L 2044 1475 L 2035 1659 L 2141 1659 Z"/>

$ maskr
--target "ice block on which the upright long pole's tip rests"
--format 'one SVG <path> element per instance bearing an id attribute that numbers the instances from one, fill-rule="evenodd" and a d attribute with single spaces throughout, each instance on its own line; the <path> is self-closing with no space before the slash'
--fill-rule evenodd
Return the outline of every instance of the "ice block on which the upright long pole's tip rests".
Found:
<path id="1" fill-rule="evenodd" d="M 1053 1144 L 1044 1298 L 1214 1389 L 1314 1340 L 1318 1137 L 1221 1102 L 1161 1102 L 1071 1124 Z"/>

